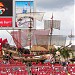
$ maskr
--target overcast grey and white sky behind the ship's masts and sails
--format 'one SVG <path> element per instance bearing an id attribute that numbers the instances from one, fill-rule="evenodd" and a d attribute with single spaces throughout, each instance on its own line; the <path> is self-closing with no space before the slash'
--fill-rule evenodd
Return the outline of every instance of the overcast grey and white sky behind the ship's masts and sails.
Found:
<path id="1" fill-rule="evenodd" d="M 36 0 L 36 12 L 45 12 L 43 20 L 37 21 L 37 29 L 44 28 L 44 20 L 50 20 L 53 13 L 53 19 L 60 20 L 60 30 L 53 29 L 53 34 L 70 35 L 71 31 L 75 34 L 75 4 L 74 0 Z M 0 31 L 0 37 L 7 37 L 12 42 L 12 37 L 6 31 Z M 73 44 L 75 41 L 73 40 Z"/>

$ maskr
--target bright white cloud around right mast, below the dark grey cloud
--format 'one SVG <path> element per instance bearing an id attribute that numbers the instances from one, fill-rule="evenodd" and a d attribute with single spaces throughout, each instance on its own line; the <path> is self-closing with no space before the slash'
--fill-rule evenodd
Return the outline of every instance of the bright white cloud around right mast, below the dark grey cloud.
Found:
<path id="1" fill-rule="evenodd" d="M 49 20 L 53 13 L 54 19 L 61 21 L 60 34 L 69 35 L 71 33 L 71 30 L 74 33 L 74 6 L 73 5 L 66 6 L 58 11 L 51 11 L 51 10 L 47 11 L 45 9 L 43 9 L 43 11 L 45 12 L 43 19 Z M 40 24 L 43 23 L 37 24 L 38 28 L 43 27 L 43 25 Z M 58 30 L 56 31 L 58 32 Z"/>

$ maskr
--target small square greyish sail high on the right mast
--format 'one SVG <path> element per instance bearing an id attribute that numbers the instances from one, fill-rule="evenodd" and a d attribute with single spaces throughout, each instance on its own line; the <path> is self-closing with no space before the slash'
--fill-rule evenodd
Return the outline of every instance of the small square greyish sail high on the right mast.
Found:
<path id="1" fill-rule="evenodd" d="M 50 29 L 52 26 L 52 20 L 44 21 L 44 29 Z M 53 20 L 53 28 L 60 30 L 60 20 Z"/>

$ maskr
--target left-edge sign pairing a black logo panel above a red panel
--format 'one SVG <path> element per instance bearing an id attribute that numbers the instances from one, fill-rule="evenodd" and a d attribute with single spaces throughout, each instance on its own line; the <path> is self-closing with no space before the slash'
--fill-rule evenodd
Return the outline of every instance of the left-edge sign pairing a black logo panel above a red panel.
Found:
<path id="1" fill-rule="evenodd" d="M 0 27 L 12 27 L 13 0 L 0 0 Z"/>

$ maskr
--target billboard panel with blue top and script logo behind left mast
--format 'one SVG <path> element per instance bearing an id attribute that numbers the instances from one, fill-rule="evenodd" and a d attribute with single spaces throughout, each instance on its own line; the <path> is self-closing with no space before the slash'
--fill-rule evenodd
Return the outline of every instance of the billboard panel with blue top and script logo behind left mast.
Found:
<path id="1" fill-rule="evenodd" d="M 16 1 L 16 27 L 28 28 L 30 26 L 30 18 L 23 16 L 18 18 L 18 14 L 30 14 L 34 11 L 33 1 Z M 33 26 L 33 21 L 31 21 Z"/>

